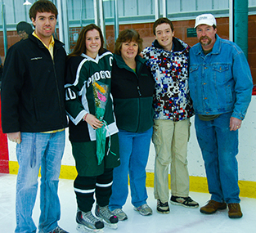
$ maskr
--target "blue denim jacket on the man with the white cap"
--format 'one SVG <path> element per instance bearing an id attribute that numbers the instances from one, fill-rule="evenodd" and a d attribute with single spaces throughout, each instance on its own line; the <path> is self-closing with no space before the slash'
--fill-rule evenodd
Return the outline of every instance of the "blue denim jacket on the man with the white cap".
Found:
<path id="1" fill-rule="evenodd" d="M 219 38 L 204 55 L 200 43 L 190 50 L 189 88 L 195 114 L 223 114 L 244 119 L 251 100 L 252 76 L 244 53 Z"/>

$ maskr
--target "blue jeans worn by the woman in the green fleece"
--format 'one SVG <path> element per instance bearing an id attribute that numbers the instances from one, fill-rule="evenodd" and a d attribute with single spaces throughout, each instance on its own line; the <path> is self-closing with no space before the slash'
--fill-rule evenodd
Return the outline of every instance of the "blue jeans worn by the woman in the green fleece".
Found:
<path id="1" fill-rule="evenodd" d="M 120 166 L 114 168 L 110 210 L 122 208 L 128 197 L 128 175 L 132 204 L 146 204 L 146 164 L 153 129 L 145 132 L 119 130 Z"/>

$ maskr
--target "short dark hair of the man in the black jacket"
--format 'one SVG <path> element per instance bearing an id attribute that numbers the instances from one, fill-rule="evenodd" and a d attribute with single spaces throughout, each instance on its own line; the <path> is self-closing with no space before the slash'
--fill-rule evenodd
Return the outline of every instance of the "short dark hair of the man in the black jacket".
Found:
<path id="1" fill-rule="evenodd" d="M 52 12 L 56 16 L 58 16 L 58 10 L 56 6 L 48 0 L 38 0 L 37 2 L 34 2 L 32 7 L 29 9 L 29 18 L 32 20 L 32 18 L 35 20 L 35 17 L 37 16 L 38 12 Z"/>

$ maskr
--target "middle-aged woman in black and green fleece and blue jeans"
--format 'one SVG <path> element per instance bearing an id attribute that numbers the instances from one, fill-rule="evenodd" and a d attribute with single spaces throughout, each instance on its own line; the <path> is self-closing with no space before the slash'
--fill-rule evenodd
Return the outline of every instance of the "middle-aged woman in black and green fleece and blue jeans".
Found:
<path id="1" fill-rule="evenodd" d="M 127 219 L 122 210 L 128 197 L 128 175 L 132 205 L 141 215 L 152 214 L 146 204 L 146 164 L 153 126 L 155 81 L 141 52 L 137 31 L 125 29 L 115 43 L 111 93 L 119 128 L 120 163 L 114 168 L 110 210 L 119 220 Z"/>

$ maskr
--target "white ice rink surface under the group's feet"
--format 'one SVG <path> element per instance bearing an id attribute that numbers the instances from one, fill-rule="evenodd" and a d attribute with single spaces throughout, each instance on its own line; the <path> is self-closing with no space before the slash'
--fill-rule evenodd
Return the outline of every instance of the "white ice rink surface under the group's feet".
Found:
<path id="1" fill-rule="evenodd" d="M 230 219 L 227 209 L 213 215 L 200 213 L 199 208 L 184 208 L 170 204 L 171 212 L 160 214 L 156 212 L 156 200 L 153 188 L 147 188 L 148 204 L 153 209 L 153 215 L 141 216 L 133 210 L 128 196 L 124 212 L 128 220 L 119 222 L 118 229 L 104 228 L 109 233 L 253 233 L 256 232 L 256 199 L 241 198 L 241 209 L 244 216 L 240 219 Z M 72 180 L 60 180 L 59 196 L 61 200 L 61 220 L 59 225 L 70 233 L 76 231 L 76 200 Z M 200 206 L 209 200 L 209 194 L 191 192 Z M 15 216 L 16 175 L 0 173 L 0 233 L 14 232 L 16 227 Z M 38 223 L 40 210 L 38 199 L 34 207 L 34 222 Z"/>

